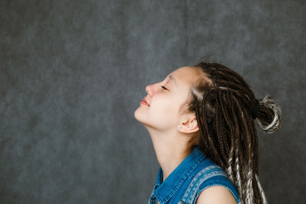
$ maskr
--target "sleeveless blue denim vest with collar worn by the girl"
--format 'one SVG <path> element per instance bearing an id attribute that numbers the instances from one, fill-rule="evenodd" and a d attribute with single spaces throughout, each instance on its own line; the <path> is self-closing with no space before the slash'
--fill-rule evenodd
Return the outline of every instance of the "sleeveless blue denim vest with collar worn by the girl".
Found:
<path id="1" fill-rule="evenodd" d="M 165 181 L 159 169 L 148 204 L 157 204 L 157 201 L 160 204 L 195 204 L 204 189 L 215 185 L 227 188 L 240 203 L 235 185 L 222 168 L 195 149 Z"/>

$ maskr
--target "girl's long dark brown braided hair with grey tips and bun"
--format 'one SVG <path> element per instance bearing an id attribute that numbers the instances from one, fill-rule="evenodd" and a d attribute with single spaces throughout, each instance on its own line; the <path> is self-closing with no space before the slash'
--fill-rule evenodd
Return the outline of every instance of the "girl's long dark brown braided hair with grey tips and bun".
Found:
<path id="1" fill-rule="evenodd" d="M 257 100 L 244 79 L 225 66 L 200 62 L 195 67 L 205 75 L 192 86 L 189 104 L 197 116 L 198 149 L 226 171 L 242 204 L 266 204 L 258 178 L 255 122 L 264 132 L 275 132 L 280 107 L 268 95 Z"/>

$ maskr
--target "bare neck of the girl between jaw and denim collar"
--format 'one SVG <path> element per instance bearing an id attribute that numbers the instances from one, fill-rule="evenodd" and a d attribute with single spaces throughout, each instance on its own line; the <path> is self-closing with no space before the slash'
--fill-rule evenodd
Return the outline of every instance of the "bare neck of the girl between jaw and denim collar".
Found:
<path id="1" fill-rule="evenodd" d="M 150 129 L 148 131 L 165 180 L 192 152 L 190 137 L 176 130 L 167 133 Z"/>

